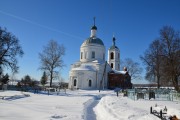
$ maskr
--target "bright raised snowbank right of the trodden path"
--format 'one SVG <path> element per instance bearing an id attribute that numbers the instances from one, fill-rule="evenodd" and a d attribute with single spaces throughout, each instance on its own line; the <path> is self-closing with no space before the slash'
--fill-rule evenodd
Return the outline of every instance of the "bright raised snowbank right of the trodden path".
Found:
<path id="1" fill-rule="evenodd" d="M 177 115 L 180 118 L 180 103 L 171 101 L 133 101 L 126 97 L 106 96 L 94 108 L 97 120 L 159 120 L 150 114 L 150 107 L 167 107 L 169 115 Z"/>

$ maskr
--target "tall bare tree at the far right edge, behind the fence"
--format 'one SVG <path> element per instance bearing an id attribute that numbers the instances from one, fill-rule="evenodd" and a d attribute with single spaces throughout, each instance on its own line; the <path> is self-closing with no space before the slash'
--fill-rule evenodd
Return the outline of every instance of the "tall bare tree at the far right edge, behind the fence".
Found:
<path id="1" fill-rule="evenodd" d="M 180 91 L 178 78 L 180 77 L 180 32 L 171 26 L 164 26 L 160 30 L 160 40 L 163 45 L 164 75 L 170 78 L 173 86 Z"/>

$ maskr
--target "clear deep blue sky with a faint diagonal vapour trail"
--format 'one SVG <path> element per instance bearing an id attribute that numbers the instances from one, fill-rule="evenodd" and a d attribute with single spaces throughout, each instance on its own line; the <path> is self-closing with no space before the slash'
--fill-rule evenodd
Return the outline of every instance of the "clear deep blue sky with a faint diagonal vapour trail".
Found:
<path id="1" fill-rule="evenodd" d="M 16 78 L 41 78 L 38 53 L 54 39 L 66 47 L 61 75 L 67 80 L 70 64 L 79 60 L 80 46 L 90 36 L 94 16 L 106 50 L 114 33 L 121 59 L 141 63 L 139 56 L 160 28 L 180 30 L 180 0 L 0 0 L 0 26 L 18 37 L 25 53 L 18 59 Z"/>

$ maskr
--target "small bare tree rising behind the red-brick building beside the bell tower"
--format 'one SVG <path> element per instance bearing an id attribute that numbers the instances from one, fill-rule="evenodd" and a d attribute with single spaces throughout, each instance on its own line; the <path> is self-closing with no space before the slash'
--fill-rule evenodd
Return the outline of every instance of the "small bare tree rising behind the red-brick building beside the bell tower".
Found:
<path id="1" fill-rule="evenodd" d="M 131 79 L 141 79 L 142 68 L 138 62 L 134 62 L 131 58 L 121 60 L 121 67 L 126 67 Z"/>

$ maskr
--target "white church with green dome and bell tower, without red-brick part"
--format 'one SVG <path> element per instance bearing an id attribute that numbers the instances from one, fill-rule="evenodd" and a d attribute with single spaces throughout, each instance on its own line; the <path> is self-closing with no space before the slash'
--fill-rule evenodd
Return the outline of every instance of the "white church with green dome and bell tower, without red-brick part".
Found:
<path id="1" fill-rule="evenodd" d="M 80 61 L 71 65 L 69 71 L 69 89 L 104 89 L 108 87 L 108 73 L 120 70 L 120 50 L 113 45 L 106 49 L 103 41 L 97 37 L 97 27 L 91 28 L 90 37 L 80 47 Z"/>

